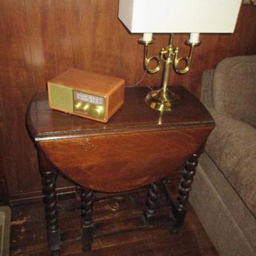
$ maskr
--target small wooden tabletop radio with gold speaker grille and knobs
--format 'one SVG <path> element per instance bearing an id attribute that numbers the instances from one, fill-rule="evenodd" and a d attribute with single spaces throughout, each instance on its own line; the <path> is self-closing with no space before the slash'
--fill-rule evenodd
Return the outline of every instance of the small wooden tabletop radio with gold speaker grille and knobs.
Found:
<path id="1" fill-rule="evenodd" d="M 48 81 L 49 106 L 100 122 L 124 103 L 124 79 L 72 68 Z"/>

